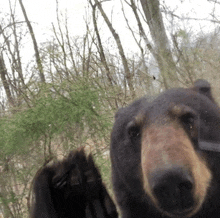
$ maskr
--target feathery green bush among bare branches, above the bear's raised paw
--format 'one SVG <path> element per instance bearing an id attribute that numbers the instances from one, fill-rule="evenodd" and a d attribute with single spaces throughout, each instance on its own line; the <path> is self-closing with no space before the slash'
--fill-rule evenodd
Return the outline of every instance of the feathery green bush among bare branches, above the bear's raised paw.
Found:
<path id="1" fill-rule="evenodd" d="M 98 137 L 108 132 L 110 122 L 100 102 L 102 90 L 84 81 L 41 89 L 30 108 L 0 120 L 0 149 L 5 154 L 27 149 L 42 136 L 51 139 L 64 133 L 74 140 L 74 126 Z"/>

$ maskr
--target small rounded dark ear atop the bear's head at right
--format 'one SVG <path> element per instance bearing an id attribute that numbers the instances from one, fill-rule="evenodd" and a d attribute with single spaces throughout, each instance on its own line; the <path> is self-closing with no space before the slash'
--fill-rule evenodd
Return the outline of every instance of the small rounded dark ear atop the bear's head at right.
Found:
<path id="1" fill-rule="evenodd" d="M 194 86 L 192 89 L 196 92 L 199 92 L 200 94 L 205 95 L 210 100 L 215 102 L 212 97 L 211 85 L 208 81 L 206 81 L 204 79 L 198 79 L 194 82 Z"/>

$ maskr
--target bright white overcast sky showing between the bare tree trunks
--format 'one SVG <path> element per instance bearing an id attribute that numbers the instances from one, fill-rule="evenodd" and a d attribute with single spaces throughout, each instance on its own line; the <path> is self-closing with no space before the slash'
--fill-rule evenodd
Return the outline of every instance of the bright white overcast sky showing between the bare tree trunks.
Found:
<path id="1" fill-rule="evenodd" d="M 9 0 L 1 0 L 1 2 L 4 3 L 0 5 L 0 13 L 2 15 L 7 14 L 9 12 Z M 11 0 L 11 2 L 12 5 L 16 2 L 17 7 L 15 13 L 19 20 L 23 20 L 18 0 Z M 208 18 L 213 7 L 213 4 L 209 3 L 207 0 L 160 0 L 160 2 L 162 6 L 165 2 L 169 10 L 182 18 L 189 16 L 197 19 Z M 28 18 L 32 22 L 37 42 L 40 43 L 51 39 L 52 23 L 55 24 L 55 26 L 57 24 L 56 0 L 23 0 L 23 4 Z M 120 35 L 125 49 L 127 49 L 128 52 L 137 51 L 138 48 L 123 18 L 121 1 L 107 1 L 103 3 L 103 8 L 109 18 L 111 18 L 113 26 Z M 85 19 L 91 16 L 91 10 L 88 10 L 88 0 L 59 0 L 59 10 L 63 16 L 68 17 L 70 34 L 72 36 L 83 36 L 86 29 Z M 129 22 L 133 29 L 138 31 L 134 15 L 129 8 L 126 9 L 126 16 L 129 18 Z M 60 19 L 62 19 L 62 16 L 60 16 Z M 91 18 L 88 19 L 88 21 L 91 22 Z M 165 16 L 164 22 L 169 29 L 173 28 L 169 16 Z M 180 28 L 184 26 L 191 28 L 194 32 L 201 32 L 202 30 L 204 33 L 210 32 L 214 28 L 210 23 L 199 22 L 198 20 L 191 20 L 190 22 L 183 21 Z M 103 21 L 99 23 L 99 28 L 102 30 L 102 38 L 104 40 L 112 37 Z"/>

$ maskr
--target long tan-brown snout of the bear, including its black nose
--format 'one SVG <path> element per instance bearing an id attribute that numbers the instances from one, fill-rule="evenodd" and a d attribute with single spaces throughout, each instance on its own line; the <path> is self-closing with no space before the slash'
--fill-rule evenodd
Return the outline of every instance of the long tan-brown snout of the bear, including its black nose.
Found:
<path id="1" fill-rule="evenodd" d="M 147 126 L 141 147 L 143 188 L 155 207 L 168 217 L 196 214 L 212 174 L 181 125 Z"/>

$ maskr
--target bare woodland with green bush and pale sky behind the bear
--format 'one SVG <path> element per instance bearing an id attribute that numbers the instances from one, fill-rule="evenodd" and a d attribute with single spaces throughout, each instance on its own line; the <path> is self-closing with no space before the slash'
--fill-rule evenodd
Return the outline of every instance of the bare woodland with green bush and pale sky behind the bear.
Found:
<path id="1" fill-rule="evenodd" d="M 32 13 L 50 15 L 30 10 L 27 0 L 4 0 L 0 217 L 28 217 L 37 170 L 81 146 L 111 191 L 114 114 L 134 99 L 203 78 L 220 102 L 220 1 L 81 2 L 84 13 L 74 17 L 53 1 L 54 20 L 41 32 Z"/>

